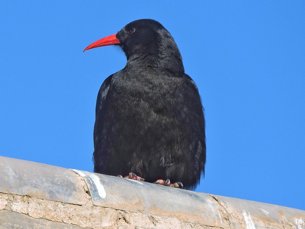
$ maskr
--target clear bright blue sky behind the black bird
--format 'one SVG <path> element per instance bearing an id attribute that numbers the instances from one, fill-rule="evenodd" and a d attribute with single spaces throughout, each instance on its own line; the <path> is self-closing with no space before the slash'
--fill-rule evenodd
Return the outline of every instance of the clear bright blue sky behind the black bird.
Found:
<path id="1" fill-rule="evenodd" d="M 173 35 L 206 115 L 196 191 L 305 210 L 304 1 L 0 3 L 0 155 L 93 170 L 95 101 L 141 18 Z"/>

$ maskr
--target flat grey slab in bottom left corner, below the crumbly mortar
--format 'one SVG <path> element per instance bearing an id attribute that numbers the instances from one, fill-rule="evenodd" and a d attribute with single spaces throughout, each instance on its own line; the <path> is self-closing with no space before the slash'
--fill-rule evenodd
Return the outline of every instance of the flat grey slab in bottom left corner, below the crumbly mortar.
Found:
<path id="1" fill-rule="evenodd" d="M 76 225 L 63 224 L 50 220 L 34 219 L 24 214 L 7 210 L 0 211 L 1 229 L 82 229 Z"/>

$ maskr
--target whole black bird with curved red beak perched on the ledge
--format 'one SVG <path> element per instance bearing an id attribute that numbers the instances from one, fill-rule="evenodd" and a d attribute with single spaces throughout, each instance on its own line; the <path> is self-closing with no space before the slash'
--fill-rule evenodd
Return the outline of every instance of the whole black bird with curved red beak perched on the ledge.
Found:
<path id="1" fill-rule="evenodd" d="M 106 78 L 97 96 L 94 172 L 132 172 L 193 190 L 206 163 L 205 121 L 174 38 L 159 22 L 141 19 L 85 50 L 106 45 L 119 45 L 127 64 Z"/>

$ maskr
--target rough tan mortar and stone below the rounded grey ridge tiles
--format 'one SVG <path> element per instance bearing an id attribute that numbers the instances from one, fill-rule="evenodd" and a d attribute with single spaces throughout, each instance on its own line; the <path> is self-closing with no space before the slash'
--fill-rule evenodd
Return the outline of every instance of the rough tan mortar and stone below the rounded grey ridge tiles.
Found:
<path id="1" fill-rule="evenodd" d="M 80 226 L 81 228 L 93 229 L 212 229 L 212 227 L 185 222 L 174 216 L 132 213 L 92 204 L 74 205 L 12 194 L 0 193 L 0 204 L 0 219 L 2 219 L 2 221 L 0 220 L 0 228 L 2 226 L 3 228 L 19 228 L 22 220 L 25 220 L 24 225 L 30 225 L 31 222 L 36 222 L 39 219 L 35 223 L 37 227 L 34 228 L 44 228 L 42 226 L 46 225 L 45 228 L 79 228 L 78 226 Z M 46 222 L 58 222 L 60 223 L 58 225 L 62 226 L 56 227 L 57 224 L 46 224 Z M 218 228 L 220 229 L 220 227 Z"/>

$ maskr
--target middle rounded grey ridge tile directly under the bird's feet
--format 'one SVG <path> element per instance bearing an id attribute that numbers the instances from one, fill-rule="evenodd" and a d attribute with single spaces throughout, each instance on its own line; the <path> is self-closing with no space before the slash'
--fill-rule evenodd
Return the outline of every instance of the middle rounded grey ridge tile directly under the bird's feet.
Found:
<path id="1" fill-rule="evenodd" d="M 92 173 L 81 172 L 86 174 L 85 182 L 95 206 L 163 216 L 176 215 L 185 221 L 224 227 L 220 205 L 208 194 L 95 173 L 106 192 L 106 197 L 102 198 L 90 177 Z"/>

